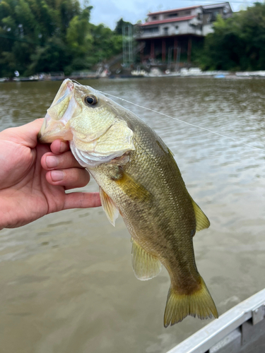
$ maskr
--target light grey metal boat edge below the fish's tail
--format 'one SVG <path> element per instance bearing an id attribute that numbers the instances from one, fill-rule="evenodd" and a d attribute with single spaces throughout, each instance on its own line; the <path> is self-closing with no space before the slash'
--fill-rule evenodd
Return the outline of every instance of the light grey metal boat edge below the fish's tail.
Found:
<path id="1" fill-rule="evenodd" d="M 262 289 L 167 353 L 264 352 L 265 289 Z"/>

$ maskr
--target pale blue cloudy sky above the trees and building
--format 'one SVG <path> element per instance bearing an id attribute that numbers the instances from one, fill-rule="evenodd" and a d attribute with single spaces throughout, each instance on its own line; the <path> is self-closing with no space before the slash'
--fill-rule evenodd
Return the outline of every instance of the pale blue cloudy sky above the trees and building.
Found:
<path id="1" fill-rule="evenodd" d="M 245 9 L 247 5 L 253 4 L 253 0 L 234 0 L 230 2 L 232 11 Z M 125 21 L 136 23 L 138 20 L 145 22 L 149 11 L 163 11 L 172 8 L 182 8 L 196 5 L 214 4 L 222 1 L 199 1 L 199 0 L 90 0 L 93 6 L 90 22 L 99 25 L 105 24 L 114 30 L 117 21 L 123 18 Z"/>

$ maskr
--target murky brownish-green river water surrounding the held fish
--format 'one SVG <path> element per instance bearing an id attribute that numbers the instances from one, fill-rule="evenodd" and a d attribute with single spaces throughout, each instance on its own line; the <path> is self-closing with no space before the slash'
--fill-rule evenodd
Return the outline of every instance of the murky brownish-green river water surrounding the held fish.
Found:
<path id="1" fill-rule="evenodd" d="M 223 313 L 265 286 L 265 80 L 146 78 L 83 84 L 237 142 L 122 103 L 165 140 L 211 220 L 194 237 Z M 0 85 L 0 129 L 45 115 L 60 83 Z M 264 148 L 254 150 L 240 143 Z M 98 189 L 94 181 L 84 188 Z M 130 236 L 102 208 L 67 210 L 0 232 L 0 352 L 163 353 L 209 321 L 163 328 L 169 277 L 136 280 Z"/>

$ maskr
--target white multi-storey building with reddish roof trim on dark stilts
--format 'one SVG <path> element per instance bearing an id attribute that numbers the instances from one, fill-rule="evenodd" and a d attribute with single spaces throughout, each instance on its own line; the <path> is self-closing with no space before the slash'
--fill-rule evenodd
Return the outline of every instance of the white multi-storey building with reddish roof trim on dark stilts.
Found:
<path id="1" fill-rule="evenodd" d="M 182 56 L 189 65 L 192 44 L 213 31 L 218 15 L 232 16 L 229 2 L 148 13 L 146 23 L 139 25 L 136 34 L 136 40 L 146 44 L 141 61 L 176 63 Z"/>

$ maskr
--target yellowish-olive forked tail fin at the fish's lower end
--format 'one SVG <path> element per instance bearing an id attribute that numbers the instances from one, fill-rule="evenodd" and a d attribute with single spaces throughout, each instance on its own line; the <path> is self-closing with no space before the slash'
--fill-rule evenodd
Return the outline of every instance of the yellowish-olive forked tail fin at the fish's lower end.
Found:
<path id="1" fill-rule="evenodd" d="M 198 316 L 198 318 L 218 318 L 216 305 L 213 302 L 211 294 L 208 292 L 204 280 L 201 278 L 201 289 L 193 294 L 178 294 L 170 286 L 167 294 L 167 304 L 165 306 L 164 326 L 175 325 L 186 316 Z"/>

